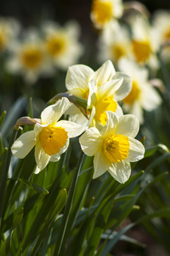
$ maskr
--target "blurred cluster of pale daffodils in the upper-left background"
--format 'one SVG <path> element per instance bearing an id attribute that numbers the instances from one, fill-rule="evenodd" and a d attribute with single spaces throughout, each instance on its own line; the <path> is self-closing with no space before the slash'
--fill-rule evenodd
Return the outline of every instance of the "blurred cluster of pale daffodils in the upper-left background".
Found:
<path id="1" fill-rule="evenodd" d="M 53 77 L 57 68 L 66 71 L 79 60 L 83 53 L 79 36 L 76 20 L 65 26 L 47 20 L 24 30 L 17 20 L 2 17 L 0 53 L 5 53 L 5 69 L 23 75 L 28 84 L 34 84 L 39 77 Z"/>

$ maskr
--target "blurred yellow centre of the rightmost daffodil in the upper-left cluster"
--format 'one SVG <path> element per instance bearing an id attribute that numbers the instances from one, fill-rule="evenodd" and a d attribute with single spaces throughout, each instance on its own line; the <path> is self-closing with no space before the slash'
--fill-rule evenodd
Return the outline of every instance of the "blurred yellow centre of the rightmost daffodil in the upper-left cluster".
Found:
<path id="1" fill-rule="evenodd" d="M 65 48 L 65 38 L 56 35 L 48 38 L 47 48 L 50 55 L 59 55 Z"/>

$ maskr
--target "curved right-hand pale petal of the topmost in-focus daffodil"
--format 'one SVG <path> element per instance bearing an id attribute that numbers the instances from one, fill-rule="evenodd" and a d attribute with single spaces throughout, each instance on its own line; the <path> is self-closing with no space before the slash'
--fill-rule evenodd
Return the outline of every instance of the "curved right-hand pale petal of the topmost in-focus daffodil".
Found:
<path id="1" fill-rule="evenodd" d="M 132 79 L 124 73 L 116 73 L 114 79 L 119 78 L 120 76 L 123 80 L 121 86 L 114 93 L 116 102 L 122 101 L 122 99 L 124 99 L 132 90 Z"/>

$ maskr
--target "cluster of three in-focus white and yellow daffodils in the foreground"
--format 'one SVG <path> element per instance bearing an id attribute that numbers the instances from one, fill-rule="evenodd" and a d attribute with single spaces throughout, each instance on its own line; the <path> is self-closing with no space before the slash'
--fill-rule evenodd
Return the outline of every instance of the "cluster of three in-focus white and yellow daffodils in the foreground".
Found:
<path id="1" fill-rule="evenodd" d="M 139 120 L 132 114 L 123 115 L 118 103 L 132 88 L 130 77 L 116 73 L 111 61 L 106 61 L 95 72 L 85 65 L 69 67 L 65 81 L 69 95 L 87 101 L 86 114 L 62 97 L 42 111 L 41 119 L 33 119 L 34 130 L 14 142 L 12 153 L 24 158 L 35 146 L 38 173 L 49 161 L 59 160 L 69 138 L 82 135 L 82 151 L 94 156 L 94 178 L 108 171 L 125 183 L 131 174 L 130 162 L 144 157 L 143 144 L 134 139 Z M 59 120 L 64 113 L 70 114 L 69 120 Z"/>

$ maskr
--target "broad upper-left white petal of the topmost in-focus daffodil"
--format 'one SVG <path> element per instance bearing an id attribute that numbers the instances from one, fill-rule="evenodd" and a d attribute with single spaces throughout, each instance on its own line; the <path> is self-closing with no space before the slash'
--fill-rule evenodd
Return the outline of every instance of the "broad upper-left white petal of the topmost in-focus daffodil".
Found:
<path id="1" fill-rule="evenodd" d="M 66 74 L 65 86 L 67 90 L 82 88 L 88 90 L 88 82 L 93 69 L 85 65 L 74 65 L 68 68 Z"/>

